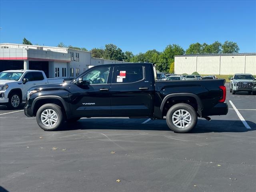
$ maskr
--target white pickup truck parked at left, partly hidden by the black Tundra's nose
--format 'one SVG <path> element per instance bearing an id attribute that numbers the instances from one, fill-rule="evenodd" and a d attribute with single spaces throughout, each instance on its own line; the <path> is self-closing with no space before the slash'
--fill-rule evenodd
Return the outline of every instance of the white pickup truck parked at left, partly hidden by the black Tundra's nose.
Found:
<path id="1" fill-rule="evenodd" d="M 63 79 L 47 79 L 44 72 L 38 70 L 3 71 L 0 73 L 0 104 L 16 109 L 22 101 L 26 101 L 31 87 L 63 82 Z"/>

